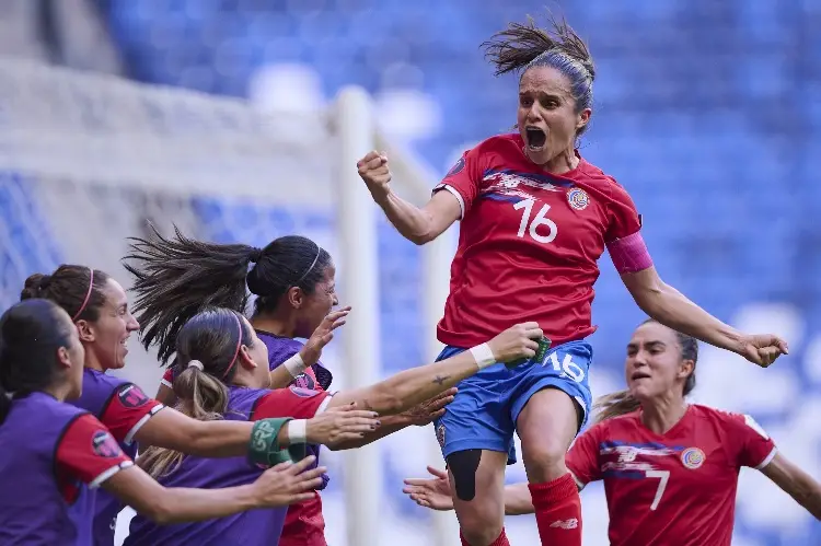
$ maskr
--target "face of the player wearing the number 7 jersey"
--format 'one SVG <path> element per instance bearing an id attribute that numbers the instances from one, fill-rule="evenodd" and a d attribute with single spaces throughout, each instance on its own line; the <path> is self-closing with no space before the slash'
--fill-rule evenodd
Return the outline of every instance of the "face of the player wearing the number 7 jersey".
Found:
<path id="1" fill-rule="evenodd" d="M 680 395 L 689 370 L 675 333 L 655 322 L 639 326 L 627 345 L 625 373 L 638 400 Z"/>

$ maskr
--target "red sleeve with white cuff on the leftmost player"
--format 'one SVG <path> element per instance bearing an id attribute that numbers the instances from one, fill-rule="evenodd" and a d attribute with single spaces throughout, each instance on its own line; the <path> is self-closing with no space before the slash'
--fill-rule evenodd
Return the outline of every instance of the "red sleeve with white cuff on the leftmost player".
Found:
<path id="1" fill-rule="evenodd" d="M 57 444 L 56 462 L 60 471 L 91 488 L 134 465 L 108 429 L 90 414 L 66 429 Z"/>

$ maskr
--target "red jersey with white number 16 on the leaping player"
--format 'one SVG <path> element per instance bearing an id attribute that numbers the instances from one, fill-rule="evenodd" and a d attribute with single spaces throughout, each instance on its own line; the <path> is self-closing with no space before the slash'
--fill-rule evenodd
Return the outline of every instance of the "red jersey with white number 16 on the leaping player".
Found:
<path id="1" fill-rule="evenodd" d="M 545 173 L 523 147 L 519 135 L 492 137 L 433 189 L 450 191 L 462 207 L 437 328 L 443 344 L 471 347 L 527 321 L 553 345 L 589 336 L 597 262 L 608 243 L 640 229 L 613 177 L 581 158 L 560 176 Z"/>

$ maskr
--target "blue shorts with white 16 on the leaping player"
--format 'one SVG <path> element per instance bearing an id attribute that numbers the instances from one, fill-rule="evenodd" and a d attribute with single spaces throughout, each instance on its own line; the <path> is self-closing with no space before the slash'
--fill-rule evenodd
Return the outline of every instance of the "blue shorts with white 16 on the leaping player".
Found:
<path id="1" fill-rule="evenodd" d="M 446 347 L 437 360 L 464 350 Z M 583 413 L 583 427 L 592 404 L 588 385 L 592 358 L 590 344 L 570 341 L 550 349 L 543 362 L 530 361 L 512 370 L 496 363 L 461 381 L 448 411 L 435 421 L 442 456 L 488 450 L 507 452 L 508 464 L 516 463 L 516 421 L 530 397 L 543 388 L 558 388 L 575 399 Z"/>

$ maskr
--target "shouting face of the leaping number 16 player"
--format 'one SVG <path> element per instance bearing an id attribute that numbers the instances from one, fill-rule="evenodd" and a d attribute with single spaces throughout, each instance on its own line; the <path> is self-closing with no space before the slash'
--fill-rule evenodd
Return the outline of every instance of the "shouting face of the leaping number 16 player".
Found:
<path id="1" fill-rule="evenodd" d="M 576 112 L 570 81 L 552 67 L 533 67 L 519 82 L 517 123 L 524 153 L 536 165 L 546 165 L 573 150 L 576 132 L 590 119 L 590 108 Z"/>

